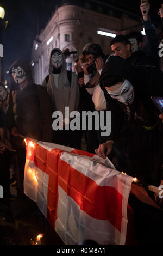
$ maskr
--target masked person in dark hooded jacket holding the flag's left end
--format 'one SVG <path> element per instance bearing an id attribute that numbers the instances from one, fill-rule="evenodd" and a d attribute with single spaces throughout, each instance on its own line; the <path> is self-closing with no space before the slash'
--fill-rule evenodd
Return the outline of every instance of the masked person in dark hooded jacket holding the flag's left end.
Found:
<path id="1" fill-rule="evenodd" d="M 18 169 L 16 175 L 17 195 L 22 198 L 26 149 L 23 139 L 52 142 L 52 107 L 46 89 L 33 83 L 32 72 L 23 60 L 14 62 L 10 69 L 11 89 L 7 108 L 7 123 L 11 133 L 12 147 L 16 149 Z"/>

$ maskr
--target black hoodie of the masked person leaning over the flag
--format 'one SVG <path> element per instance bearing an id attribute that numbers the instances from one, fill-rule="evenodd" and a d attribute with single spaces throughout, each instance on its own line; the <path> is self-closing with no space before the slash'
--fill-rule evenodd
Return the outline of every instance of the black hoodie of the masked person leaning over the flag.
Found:
<path id="1" fill-rule="evenodd" d="M 163 74 L 156 68 L 134 67 L 121 57 L 112 57 L 102 71 L 101 82 L 108 76 L 126 78 L 134 87 L 132 105 L 122 104 L 105 91 L 111 111 L 111 135 L 118 156 L 118 170 L 155 186 L 160 185 L 162 173 L 162 132 L 159 111 L 151 96 L 163 95 Z M 115 107 L 116 106 L 116 107 Z"/>

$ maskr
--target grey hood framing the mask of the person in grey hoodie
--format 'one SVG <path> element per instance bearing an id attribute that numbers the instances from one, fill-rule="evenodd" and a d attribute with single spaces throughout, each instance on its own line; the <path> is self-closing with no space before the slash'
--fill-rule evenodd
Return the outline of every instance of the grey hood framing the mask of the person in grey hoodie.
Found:
<path id="1" fill-rule="evenodd" d="M 52 55 L 54 54 L 54 52 L 60 52 L 61 56 L 62 56 L 62 66 L 61 66 L 61 69 L 55 69 L 52 65 L 52 62 L 51 62 L 51 57 Z M 56 72 L 54 72 L 54 70 Z M 66 60 L 65 60 L 65 55 L 64 53 L 62 53 L 62 51 L 59 49 L 59 48 L 54 48 L 51 52 L 51 56 L 50 56 L 50 64 L 49 64 L 49 74 L 61 74 L 61 73 L 65 73 L 67 72 L 67 66 L 66 66 Z"/>

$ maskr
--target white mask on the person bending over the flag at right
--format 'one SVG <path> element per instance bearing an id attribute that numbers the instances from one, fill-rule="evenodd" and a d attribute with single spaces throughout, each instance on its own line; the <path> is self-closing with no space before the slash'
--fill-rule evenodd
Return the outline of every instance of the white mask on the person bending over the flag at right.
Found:
<path id="1" fill-rule="evenodd" d="M 134 88 L 132 84 L 126 79 L 120 89 L 116 91 L 111 91 L 109 88 L 105 87 L 112 99 L 118 100 L 122 103 L 132 104 L 134 102 Z"/>

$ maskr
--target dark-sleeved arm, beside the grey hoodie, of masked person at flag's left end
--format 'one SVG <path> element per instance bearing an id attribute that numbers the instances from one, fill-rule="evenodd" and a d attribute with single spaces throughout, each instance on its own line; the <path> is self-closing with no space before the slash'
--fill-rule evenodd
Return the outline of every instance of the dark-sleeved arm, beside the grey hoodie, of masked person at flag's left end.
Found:
<path id="1" fill-rule="evenodd" d="M 49 95 L 46 88 L 37 86 L 40 101 L 40 111 L 43 121 L 43 136 L 42 141 L 52 142 L 53 129 L 52 129 L 52 106 L 50 104 Z"/>

